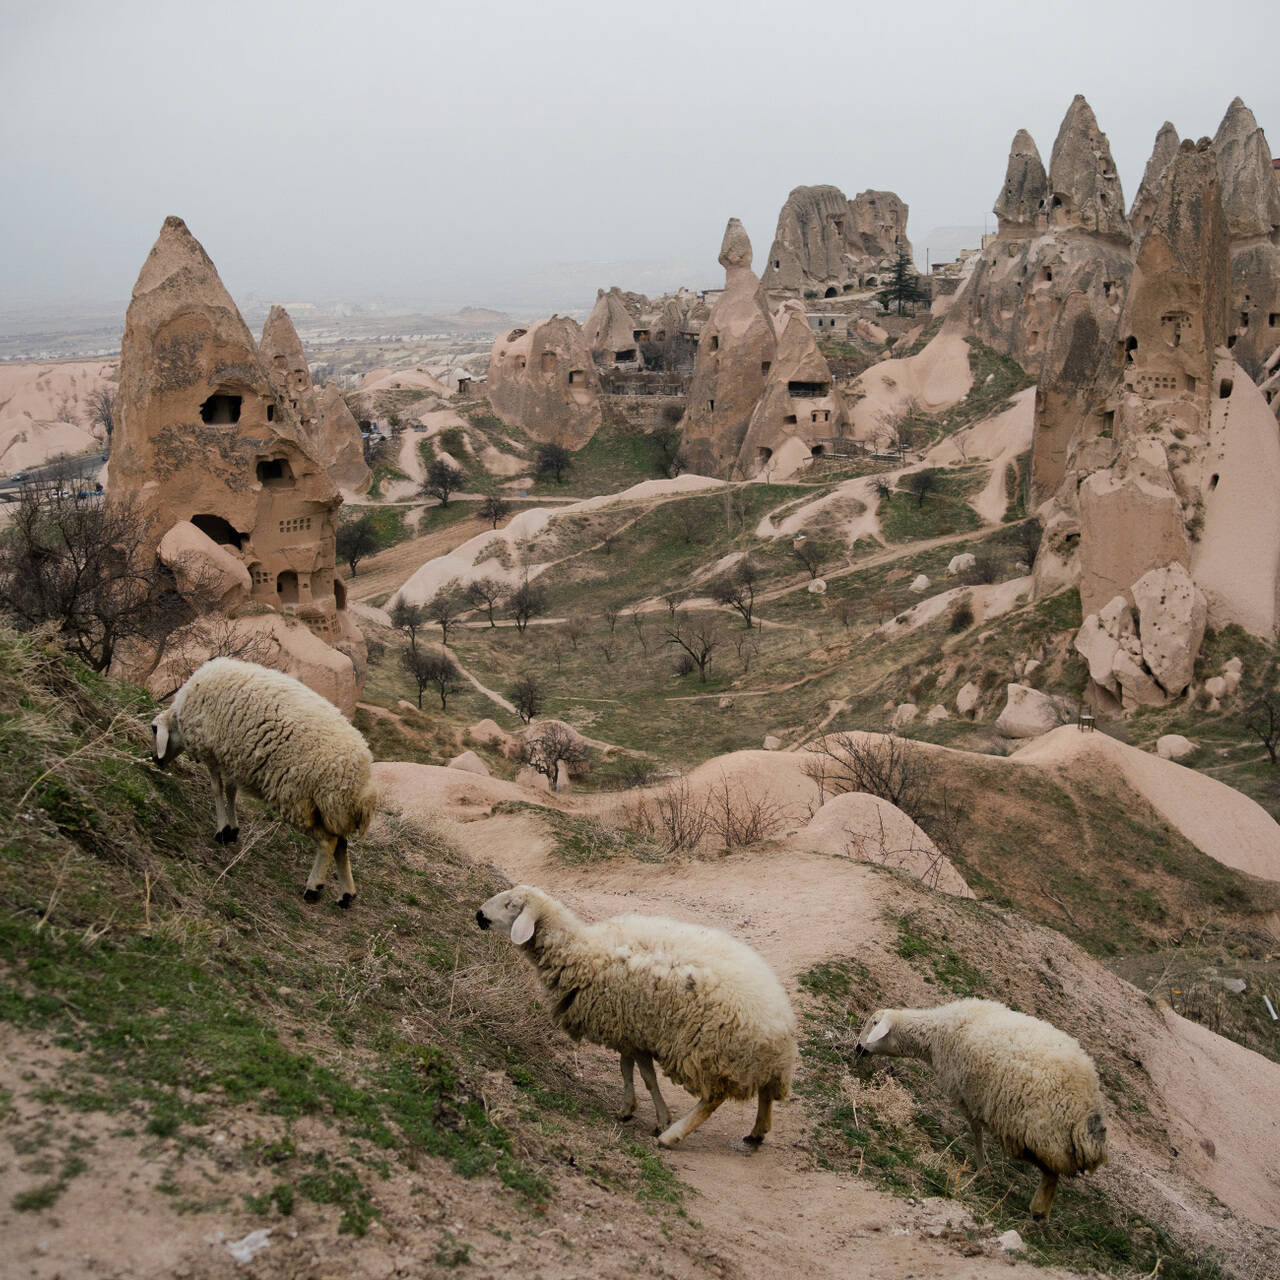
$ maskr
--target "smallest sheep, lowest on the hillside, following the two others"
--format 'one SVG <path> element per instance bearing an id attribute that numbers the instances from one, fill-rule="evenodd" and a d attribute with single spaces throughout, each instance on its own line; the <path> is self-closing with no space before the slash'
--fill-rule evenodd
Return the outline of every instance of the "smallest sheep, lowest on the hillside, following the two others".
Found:
<path id="1" fill-rule="evenodd" d="M 982 1130 L 1005 1155 L 1041 1171 L 1032 1217 L 1048 1219 L 1059 1178 L 1107 1162 L 1102 1091 L 1092 1059 L 1066 1032 L 995 1000 L 956 1000 L 937 1009 L 878 1009 L 858 1051 L 919 1057 L 937 1073 L 969 1121 L 986 1164 Z"/>

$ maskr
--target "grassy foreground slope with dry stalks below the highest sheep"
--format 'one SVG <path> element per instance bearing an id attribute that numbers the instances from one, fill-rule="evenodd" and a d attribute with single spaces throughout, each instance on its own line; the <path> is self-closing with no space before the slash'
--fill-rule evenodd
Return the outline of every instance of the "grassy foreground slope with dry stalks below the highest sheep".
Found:
<path id="1" fill-rule="evenodd" d="M 248 803 L 242 856 L 214 845 L 204 771 L 146 763 L 150 709 L 0 630 L 0 1019 L 64 1052 L 50 1106 L 151 1143 L 179 1210 L 333 1206 L 339 1234 L 384 1212 L 396 1170 L 506 1188 L 517 1234 L 566 1178 L 632 1204 L 654 1192 L 645 1152 L 557 1061 L 524 966 L 475 929 L 492 876 L 380 818 L 353 858 L 357 909 L 308 908 L 307 842 Z M 511 1093 L 500 1121 L 485 1073 Z M 188 1185 L 183 1153 L 237 1108 L 273 1140 L 221 1151 L 223 1185 Z M 22 1167 L 18 1211 L 104 1172 L 91 1149 Z M 669 1180 L 663 1193 L 678 1201 Z"/>

